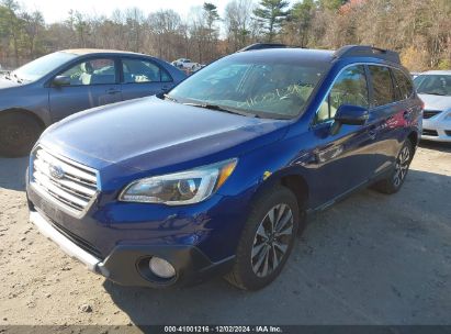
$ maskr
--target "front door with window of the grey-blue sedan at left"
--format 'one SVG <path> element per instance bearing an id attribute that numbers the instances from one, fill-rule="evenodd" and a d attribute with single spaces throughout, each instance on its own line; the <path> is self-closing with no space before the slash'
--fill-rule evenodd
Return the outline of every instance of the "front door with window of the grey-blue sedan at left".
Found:
<path id="1" fill-rule="evenodd" d="M 54 122 L 81 110 L 122 100 L 117 62 L 114 57 L 83 59 L 58 76 L 69 78 L 70 84 L 49 87 L 49 107 Z"/>

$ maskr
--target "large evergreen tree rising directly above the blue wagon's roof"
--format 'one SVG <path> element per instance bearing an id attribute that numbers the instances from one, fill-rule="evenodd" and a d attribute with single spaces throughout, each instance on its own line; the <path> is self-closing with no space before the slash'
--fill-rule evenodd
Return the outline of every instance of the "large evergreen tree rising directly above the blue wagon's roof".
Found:
<path id="1" fill-rule="evenodd" d="M 268 42 L 272 42 L 277 35 L 279 27 L 285 21 L 289 11 L 286 0 L 261 0 L 259 7 L 253 11 L 257 20 L 266 30 Z"/>

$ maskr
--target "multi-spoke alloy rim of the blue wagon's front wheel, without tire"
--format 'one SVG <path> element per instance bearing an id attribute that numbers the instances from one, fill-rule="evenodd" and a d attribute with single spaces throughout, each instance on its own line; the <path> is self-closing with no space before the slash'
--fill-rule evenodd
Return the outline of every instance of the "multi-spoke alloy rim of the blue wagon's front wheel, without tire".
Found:
<path id="1" fill-rule="evenodd" d="M 251 252 L 258 277 L 271 275 L 284 259 L 293 237 L 293 212 L 287 204 L 273 207 L 260 222 Z"/>

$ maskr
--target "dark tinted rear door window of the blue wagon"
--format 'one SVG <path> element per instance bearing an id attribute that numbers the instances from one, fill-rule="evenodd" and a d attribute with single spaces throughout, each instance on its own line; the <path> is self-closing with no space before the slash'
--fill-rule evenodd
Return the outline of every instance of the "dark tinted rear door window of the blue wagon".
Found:
<path id="1" fill-rule="evenodd" d="M 369 66 L 373 82 L 373 105 L 384 105 L 394 101 L 394 90 L 388 67 Z"/>

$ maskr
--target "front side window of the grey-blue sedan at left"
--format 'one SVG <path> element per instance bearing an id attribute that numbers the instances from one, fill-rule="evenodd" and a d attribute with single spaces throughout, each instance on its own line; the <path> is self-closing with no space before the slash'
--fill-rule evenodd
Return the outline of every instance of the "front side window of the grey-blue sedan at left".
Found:
<path id="1" fill-rule="evenodd" d="M 116 82 L 114 59 L 97 58 L 79 63 L 60 76 L 69 77 L 69 86 L 111 85 Z"/>

